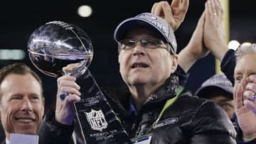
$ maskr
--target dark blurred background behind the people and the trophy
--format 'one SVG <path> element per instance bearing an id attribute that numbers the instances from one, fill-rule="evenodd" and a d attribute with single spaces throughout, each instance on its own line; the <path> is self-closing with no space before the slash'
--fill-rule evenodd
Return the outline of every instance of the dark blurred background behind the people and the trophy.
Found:
<path id="1" fill-rule="evenodd" d="M 180 51 L 191 38 L 199 16 L 204 10 L 206 0 L 191 0 L 185 21 L 178 31 L 176 39 Z M 41 0 L 41 1 L 1 1 L 0 6 L 0 56 L 6 55 L 2 50 L 23 50 L 22 60 L 0 60 L 0 67 L 13 62 L 25 62 L 36 70 L 27 55 L 28 38 L 36 28 L 49 21 L 65 21 L 82 28 L 90 36 L 94 47 L 94 57 L 90 71 L 100 85 L 119 86 L 122 84 L 117 62 L 117 44 L 113 39 L 114 28 L 124 18 L 142 12 L 149 12 L 154 0 L 100 1 L 100 0 Z M 171 1 L 169 1 L 171 2 Z M 230 1 L 230 40 L 240 43 L 255 43 L 256 18 L 254 0 Z M 78 7 L 89 5 L 92 15 L 88 18 L 78 16 Z M 12 51 L 9 51 L 12 52 Z M 12 55 L 14 56 L 14 55 Z M 189 71 L 187 87 L 195 92 L 200 84 L 215 74 L 213 55 L 196 62 Z M 38 70 L 43 78 L 46 109 L 54 104 L 56 79 L 48 77 Z"/>

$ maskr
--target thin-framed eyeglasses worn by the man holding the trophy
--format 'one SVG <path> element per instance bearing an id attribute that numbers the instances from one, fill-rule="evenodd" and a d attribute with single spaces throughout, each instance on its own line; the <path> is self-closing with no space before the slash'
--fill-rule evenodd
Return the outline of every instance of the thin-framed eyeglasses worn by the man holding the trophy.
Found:
<path id="1" fill-rule="evenodd" d="M 154 38 L 143 38 L 140 40 L 136 39 L 126 39 L 121 40 L 118 43 L 118 52 L 121 50 L 132 50 L 136 47 L 137 43 L 140 42 L 143 46 L 143 48 L 146 49 L 154 49 L 154 48 L 164 48 L 171 52 L 171 54 L 174 54 L 174 52 L 171 50 L 171 46 L 164 43 L 163 40 L 154 39 Z"/>

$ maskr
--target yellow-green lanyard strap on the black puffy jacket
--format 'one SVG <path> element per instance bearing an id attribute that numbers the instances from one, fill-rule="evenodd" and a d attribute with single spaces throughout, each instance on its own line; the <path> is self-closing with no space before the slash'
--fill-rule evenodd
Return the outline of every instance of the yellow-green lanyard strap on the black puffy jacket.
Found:
<path id="1" fill-rule="evenodd" d="M 159 117 L 156 119 L 156 121 L 153 123 L 152 127 L 156 128 L 156 124 L 159 122 L 161 116 L 163 116 L 164 111 L 166 111 L 167 108 L 171 106 L 171 104 L 174 104 L 174 102 L 178 99 L 178 96 L 183 92 L 184 87 L 178 86 L 177 94 L 173 98 L 166 101 L 166 104 L 164 104 L 163 109 L 161 109 L 161 112 L 159 113 Z"/>

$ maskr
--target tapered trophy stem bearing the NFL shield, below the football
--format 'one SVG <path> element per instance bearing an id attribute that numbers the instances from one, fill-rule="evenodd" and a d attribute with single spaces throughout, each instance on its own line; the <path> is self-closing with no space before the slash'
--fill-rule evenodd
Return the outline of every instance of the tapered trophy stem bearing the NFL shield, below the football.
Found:
<path id="1" fill-rule="evenodd" d="M 132 143 L 90 71 L 77 82 L 81 99 L 74 105 L 85 143 Z"/>

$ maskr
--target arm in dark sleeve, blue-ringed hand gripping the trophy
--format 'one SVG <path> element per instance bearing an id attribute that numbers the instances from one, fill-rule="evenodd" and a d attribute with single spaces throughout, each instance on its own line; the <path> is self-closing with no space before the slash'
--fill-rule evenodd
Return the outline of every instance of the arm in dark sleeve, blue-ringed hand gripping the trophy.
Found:
<path id="1" fill-rule="evenodd" d="M 55 112 L 46 113 L 38 130 L 39 143 L 69 144 L 74 131 L 75 108 L 73 102 L 80 100 L 80 87 L 75 83 L 75 77 L 64 75 L 58 78 L 58 93 Z M 66 94 L 60 98 L 61 94 Z"/>

